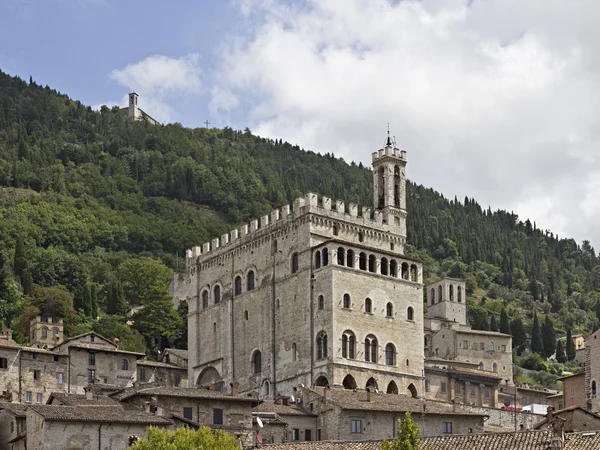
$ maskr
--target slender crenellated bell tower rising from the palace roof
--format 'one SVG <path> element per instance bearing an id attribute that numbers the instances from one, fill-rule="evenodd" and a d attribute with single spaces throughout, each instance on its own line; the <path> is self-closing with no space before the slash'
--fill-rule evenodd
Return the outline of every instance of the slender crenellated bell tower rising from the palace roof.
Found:
<path id="1" fill-rule="evenodd" d="M 406 150 L 388 135 L 384 148 L 373 152 L 373 209 L 383 213 L 392 233 L 406 237 Z"/>

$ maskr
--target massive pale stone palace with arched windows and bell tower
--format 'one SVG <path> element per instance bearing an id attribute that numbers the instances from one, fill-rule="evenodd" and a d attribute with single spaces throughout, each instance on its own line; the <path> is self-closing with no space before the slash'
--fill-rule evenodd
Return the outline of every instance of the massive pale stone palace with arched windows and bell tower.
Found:
<path id="1" fill-rule="evenodd" d="M 422 265 L 404 255 L 406 152 L 373 154 L 376 208 L 307 194 L 187 252 L 190 386 L 422 391 Z M 422 393 L 422 392 L 421 392 Z"/>

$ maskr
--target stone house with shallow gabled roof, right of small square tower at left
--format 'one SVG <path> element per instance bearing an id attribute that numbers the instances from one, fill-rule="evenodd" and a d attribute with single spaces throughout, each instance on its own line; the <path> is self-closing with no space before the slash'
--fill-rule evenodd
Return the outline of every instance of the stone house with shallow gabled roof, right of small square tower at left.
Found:
<path id="1" fill-rule="evenodd" d="M 70 361 L 67 392 L 83 393 L 89 383 L 131 386 L 136 381 L 137 360 L 143 353 L 119 349 L 98 333 L 89 332 L 65 340 L 53 349 Z"/>

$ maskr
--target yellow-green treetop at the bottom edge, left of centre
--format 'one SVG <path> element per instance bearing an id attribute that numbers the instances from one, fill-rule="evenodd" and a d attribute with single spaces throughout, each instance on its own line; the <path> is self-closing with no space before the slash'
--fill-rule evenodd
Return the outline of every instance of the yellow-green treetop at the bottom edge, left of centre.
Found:
<path id="1" fill-rule="evenodd" d="M 211 430 L 201 426 L 198 431 L 187 427 L 176 430 L 149 427 L 146 437 L 141 438 L 135 450 L 239 450 L 235 436 L 223 430 Z"/>

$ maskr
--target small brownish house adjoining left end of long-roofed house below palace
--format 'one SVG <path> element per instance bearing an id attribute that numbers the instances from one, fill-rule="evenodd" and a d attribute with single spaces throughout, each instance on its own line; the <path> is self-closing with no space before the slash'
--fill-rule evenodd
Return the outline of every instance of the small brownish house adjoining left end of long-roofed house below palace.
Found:
<path id="1" fill-rule="evenodd" d="M 263 427 L 256 420 L 254 424 L 263 444 L 317 439 L 317 415 L 295 402 L 290 403 L 288 398 L 282 398 L 280 402 L 264 401 L 252 410 L 252 414 L 263 423 Z"/>

